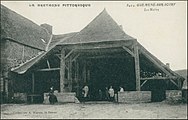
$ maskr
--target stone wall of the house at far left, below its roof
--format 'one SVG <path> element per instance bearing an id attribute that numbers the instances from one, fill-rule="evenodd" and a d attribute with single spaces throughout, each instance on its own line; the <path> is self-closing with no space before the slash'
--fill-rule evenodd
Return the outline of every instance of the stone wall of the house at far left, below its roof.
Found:
<path id="1" fill-rule="evenodd" d="M 11 68 L 31 59 L 40 51 L 39 49 L 25 46 L 11 40 L 1 39 L 1 96 L 6 98 L 10 97 L 9 93 L 12 90 L 10 90 L 11 87 L 9 86 L 13 83 L 8 73 Z"/>

